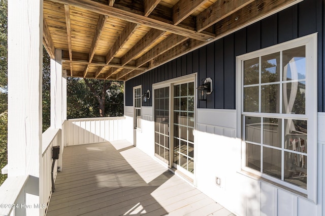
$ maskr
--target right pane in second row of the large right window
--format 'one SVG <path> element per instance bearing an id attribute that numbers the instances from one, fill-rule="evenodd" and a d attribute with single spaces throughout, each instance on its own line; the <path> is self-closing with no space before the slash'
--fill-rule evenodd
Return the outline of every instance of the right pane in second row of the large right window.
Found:
<path id="1" fill-rule="evenodd" d="M 306 113 L 306 82 L 283 83 L 283 113 Z"/>

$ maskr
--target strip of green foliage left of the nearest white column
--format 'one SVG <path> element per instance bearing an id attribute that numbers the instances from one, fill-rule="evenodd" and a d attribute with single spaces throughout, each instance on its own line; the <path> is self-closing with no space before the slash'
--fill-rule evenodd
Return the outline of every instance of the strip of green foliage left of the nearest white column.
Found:
<path id="1" fill-rule="evenodd" d="M 8 2 L 0 0 L 0 169 L 7 164 L 7 135 L 8 135 Z M 0 172 L 0 185 L 7 175 Z"/>

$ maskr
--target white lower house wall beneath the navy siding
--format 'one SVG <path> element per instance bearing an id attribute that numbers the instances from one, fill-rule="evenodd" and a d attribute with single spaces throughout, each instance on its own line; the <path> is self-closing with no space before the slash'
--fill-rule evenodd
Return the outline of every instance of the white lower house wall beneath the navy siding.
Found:
<path id="1" fill-rule="evenodd" d="M 198 109 L 195 186 L 237 215 L 324 215 L 325 113 L 318 113 L 317 204 L 272 183 L 241 172 L 241 140 L 236 138 L 236 110 Z M 151 115 L 150 115 L 151 113 Z M 154 156 L 152 107 L 142 107 L 137 147 Z M 133 107 L 125 107 L 126 139 L 133 142 Z M 156 158 L 155 158 L 156 159 Z M 221 186 L 217 186 L 216 177 Z"/>

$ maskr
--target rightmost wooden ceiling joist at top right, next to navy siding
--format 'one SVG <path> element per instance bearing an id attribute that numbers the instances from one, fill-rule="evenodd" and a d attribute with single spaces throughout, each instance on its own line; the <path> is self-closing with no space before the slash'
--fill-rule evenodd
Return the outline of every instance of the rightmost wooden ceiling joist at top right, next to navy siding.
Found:
<path id="1" fill-rule="evenodd" d="M 236 11 L 215 25 L 218 37 L 243 28 L 256 20 L 270 16 L 283 8 L 297 4 L 302 0 L 264 0 L 254 1 L 246 7 Z M 236 21 L 235 21 L 236 20 Z"/>

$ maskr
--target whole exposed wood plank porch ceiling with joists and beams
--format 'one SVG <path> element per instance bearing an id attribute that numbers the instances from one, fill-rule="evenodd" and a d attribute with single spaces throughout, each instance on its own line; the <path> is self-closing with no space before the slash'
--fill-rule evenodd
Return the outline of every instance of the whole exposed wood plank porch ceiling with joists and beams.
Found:
<path id="1" fill-rule="evenodd" d="M 298 0 L 44 0 L 68 76 L 128 80 Z"/>

